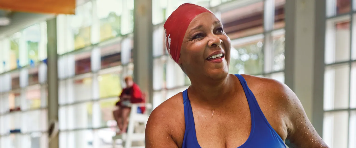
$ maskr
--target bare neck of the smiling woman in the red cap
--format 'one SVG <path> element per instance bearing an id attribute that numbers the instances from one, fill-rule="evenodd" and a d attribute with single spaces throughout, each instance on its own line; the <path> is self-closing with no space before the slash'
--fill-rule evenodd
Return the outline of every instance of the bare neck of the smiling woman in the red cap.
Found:
<path id="1" fill-rule="evenodd" d="M 223 98 L 231 98 L 237 89 L 233 75 L 228 74 L 220 81 L 192 82 L 188 88 L 189 99 L 196 99 L 199 103 L 216 104 L 223 102 Z M 218 98 L 218 99 L 217 99 Z"/>

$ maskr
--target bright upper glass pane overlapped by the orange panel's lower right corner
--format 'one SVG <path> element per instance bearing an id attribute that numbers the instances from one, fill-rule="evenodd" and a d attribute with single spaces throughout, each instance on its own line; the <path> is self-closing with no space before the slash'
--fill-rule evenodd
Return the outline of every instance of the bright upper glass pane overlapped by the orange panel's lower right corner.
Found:
<path id="1" fill-rule="evenodd" d="M 88 2 L 75 9 L 69 21 L 74 38 L 74 49 L 83 48 L 91 44 L 91 25 L 93 24 L 93 4 Z"/>

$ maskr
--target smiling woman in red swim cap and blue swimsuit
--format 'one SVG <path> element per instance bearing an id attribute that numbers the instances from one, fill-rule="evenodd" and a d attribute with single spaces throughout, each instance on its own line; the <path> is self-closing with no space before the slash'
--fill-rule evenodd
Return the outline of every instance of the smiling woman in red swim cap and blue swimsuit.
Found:
<path id="1" fill-rule="evenodd" d="M 183 4 L 164 24 L 167 49 L 192 84 L 152 111 L 147 148 L 328 147 L 286 85 L 229 74 L 229 37 L 209 10 Z"/>

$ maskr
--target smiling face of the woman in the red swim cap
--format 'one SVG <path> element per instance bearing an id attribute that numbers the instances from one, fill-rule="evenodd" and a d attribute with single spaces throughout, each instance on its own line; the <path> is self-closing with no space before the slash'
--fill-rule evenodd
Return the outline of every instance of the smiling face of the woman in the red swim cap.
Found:
<path id="1" fill-rule="evenodd" d="M 231 41 L 214 14 L 204 12 L 185 32 L 178 64 L 190 79 L 202 76 L 218 80 L 229 72 Z"/>

